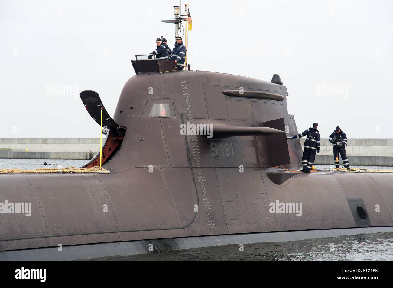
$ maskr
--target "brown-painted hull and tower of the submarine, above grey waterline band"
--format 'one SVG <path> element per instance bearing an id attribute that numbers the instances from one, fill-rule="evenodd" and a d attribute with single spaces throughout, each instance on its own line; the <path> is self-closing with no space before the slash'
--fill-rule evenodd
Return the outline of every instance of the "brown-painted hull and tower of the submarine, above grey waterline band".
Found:
<path id="1" fill-rule="evenodd" d="M 222 93 L 239 87 L 284 100 Z M 299 140 L 288 140 L 286 151 L 274 151 L 268 136 L 211 140 L 180 134 L 180 124 L 186 122 L 270 127 L 270 121 L 283 118 L 288 129 L 284 136 L 291 136 L 297 129 L 286 95 L 285 86 L 222 73 L 130 78 L 113 117 L 127 130 L 121 149 L 104 165 L 110 174 L 0 175 L 0 202 L 31 202 L 30 217 L 0 214 L 0 250 L 392 226 L 393 174 L 283 172 L 270 166 L 288 163 L 287 153 L 290 164 L 284 167 L 300 169 Z M 168 104 L 172 117 L 149 117 L 154 102 Z M 269 203 L 277 200 L 301 202 L 301 217 L 270 213 Z M 366 219 L 354 214 L 357 207 L 364 209 Z"/>

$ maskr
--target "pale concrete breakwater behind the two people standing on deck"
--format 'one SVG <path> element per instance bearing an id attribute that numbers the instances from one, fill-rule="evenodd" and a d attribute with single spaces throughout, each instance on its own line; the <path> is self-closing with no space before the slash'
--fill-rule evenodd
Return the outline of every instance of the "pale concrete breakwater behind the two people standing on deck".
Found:
<path id="1" fill-rule="evenodd" d="M 305 140 L 300 139 L 302 148 Z M 345 151 L 349 166 L 393 166 L 393 139 L 390 138 L 351 138 L 348 139 Z M 333 148 L 329 139 L 321 139 L 321 151 L 316 155 L 314 164 L 334 165 Z"/>

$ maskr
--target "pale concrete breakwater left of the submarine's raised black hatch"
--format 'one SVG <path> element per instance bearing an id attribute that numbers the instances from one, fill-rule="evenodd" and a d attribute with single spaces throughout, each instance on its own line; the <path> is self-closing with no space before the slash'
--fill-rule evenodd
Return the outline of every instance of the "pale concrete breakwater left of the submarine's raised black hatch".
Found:
<path id="1" fill-rule="evenodd" d="M 99 138 L 0 138 L 0 158 L 90 160 L 99 147 Z"/>

